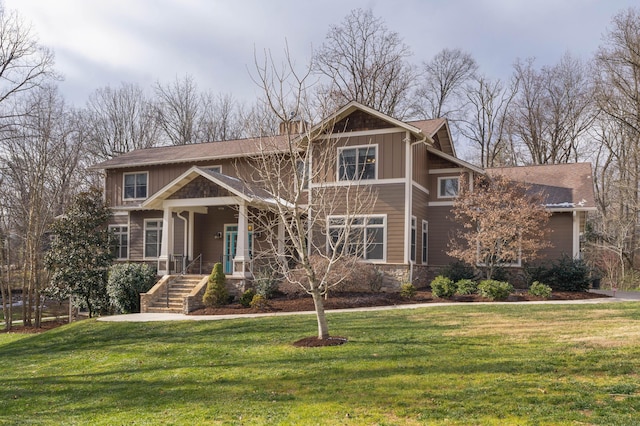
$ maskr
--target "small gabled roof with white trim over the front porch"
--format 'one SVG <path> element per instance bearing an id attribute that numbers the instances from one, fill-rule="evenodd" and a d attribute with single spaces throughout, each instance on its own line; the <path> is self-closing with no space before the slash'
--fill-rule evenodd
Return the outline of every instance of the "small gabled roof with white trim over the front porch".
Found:
<path id="1" fill-rule="evenodd" d="M 278 199 L 270 192 L 264 190 L 255 185 L 250 185 L 247 182 L 218 173 L 212 170 L 203 169 L 200 167 L 191 167 L 182 175 L 175 178 L 169 184 L 167 184 L 160 191 L 155 193 L 152 197 L 148 198 L 142 203 L 143 208 L 149 209 L 161 209 L 163 202 L 173 195 L 180 188 L 193 181 L 196 177 L 203 176 L 216 185 L 225 188 L 234 196 L 246 201 L 247 203 L 257 203 L 263 205 L 276 205 L 277 203 L 284 203 L 286 201 Z"/>

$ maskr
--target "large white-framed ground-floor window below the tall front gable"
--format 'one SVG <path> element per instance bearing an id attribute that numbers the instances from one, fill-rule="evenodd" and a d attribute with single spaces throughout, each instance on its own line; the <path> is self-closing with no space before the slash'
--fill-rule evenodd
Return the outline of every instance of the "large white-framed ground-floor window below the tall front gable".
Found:
<path id="1" fill-rule="evenodd" d="M 365 260 L 384 260 L 384 216 L 336 216 L 329 219 L 330 250 Z"/>

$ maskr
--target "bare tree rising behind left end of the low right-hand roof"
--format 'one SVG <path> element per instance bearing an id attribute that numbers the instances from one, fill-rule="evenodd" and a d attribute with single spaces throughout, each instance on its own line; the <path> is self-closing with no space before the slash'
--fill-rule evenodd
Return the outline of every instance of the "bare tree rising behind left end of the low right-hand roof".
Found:
<path id="1" fill-rule="evenodd" d="M 482 167 L 515 165 L 507 129 L 507 111 L 515 94 L 516 85 L 486 77 L 474 78 L 467 86 L 468 111 L 460 132 L 479 151 Z"/>

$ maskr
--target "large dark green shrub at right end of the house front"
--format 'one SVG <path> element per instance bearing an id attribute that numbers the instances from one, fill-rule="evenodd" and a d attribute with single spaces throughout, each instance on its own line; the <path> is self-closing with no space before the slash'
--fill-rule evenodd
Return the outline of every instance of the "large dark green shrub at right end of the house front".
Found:
<path id="1" fill-rule="evenodd" d="M 550 267 L 537 266 L 527 269 L 529 282 L 547 284 L 553 291 L 587 291 L 591 285 L 590 270 L 581 259 L 563 255 Z"/>

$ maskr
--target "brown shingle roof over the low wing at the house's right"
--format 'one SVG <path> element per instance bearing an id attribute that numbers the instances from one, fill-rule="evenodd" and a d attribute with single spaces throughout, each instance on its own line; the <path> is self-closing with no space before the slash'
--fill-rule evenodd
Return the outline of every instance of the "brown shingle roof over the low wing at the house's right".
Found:
<path id="1" fill-rule="evenodd" d="M 532 191 L 541 191 L 546 196 L 545 206 L 549 210 L 596 210 L 591 163 L 496 167 L 486 170 L 489 175 L 500 174 L 530 184 Z"/>

